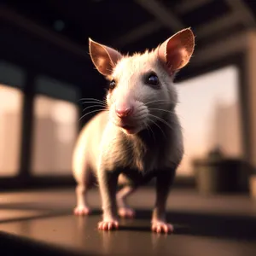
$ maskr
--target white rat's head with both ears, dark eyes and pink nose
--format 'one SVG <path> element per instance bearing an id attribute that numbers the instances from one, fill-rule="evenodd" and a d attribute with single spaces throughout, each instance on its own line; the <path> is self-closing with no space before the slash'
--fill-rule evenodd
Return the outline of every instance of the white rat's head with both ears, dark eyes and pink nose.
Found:
<path id="1" fill-rule="evenodd" d="M 142 131 L 175 108 L 177 93 L 172 80 L 189 63 L 195 47 L 189 28 L 152 51 L 131 56 L 91 39 L 89 44 L 91 60 L 109 80 L 110 119 L 125 133 Z"/>

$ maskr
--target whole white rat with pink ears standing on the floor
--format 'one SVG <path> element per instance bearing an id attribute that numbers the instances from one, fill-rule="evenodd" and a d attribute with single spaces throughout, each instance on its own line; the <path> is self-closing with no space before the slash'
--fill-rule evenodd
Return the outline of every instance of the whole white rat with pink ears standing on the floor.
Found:
<path id="1" fill-rule="evenodd" d="M 175 107 L 175 73 L 188 64 L 195 47 L 190 28 L 152 51 L 121 55 L 89 38 L 90 57 L 109 80 L 106 110 L 84 126 L 73 154 L 78 183 L 75 214 L 90 213 L 86 194 L 94 178 L 102 198 L 100 230 L 119 227 L 118 214 L 131 217 L 125 203 L 139 185 L 156 178 L 152 230 L 173 231 L 166 223 L 166 200 L 183 158 L 183 136 Z M 118 183 L 124 185 L 116 195 Z"/>

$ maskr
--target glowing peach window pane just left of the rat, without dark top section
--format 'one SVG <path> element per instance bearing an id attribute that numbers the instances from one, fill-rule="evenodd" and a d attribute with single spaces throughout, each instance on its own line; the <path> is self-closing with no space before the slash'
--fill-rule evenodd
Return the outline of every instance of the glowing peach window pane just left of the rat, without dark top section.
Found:
<path id="1" fill-rule="evenodd" d="M 78 134 L 75 104 L 37 96 L 34 108 L 32 174 L 72 174 L 73 146 Z"/>

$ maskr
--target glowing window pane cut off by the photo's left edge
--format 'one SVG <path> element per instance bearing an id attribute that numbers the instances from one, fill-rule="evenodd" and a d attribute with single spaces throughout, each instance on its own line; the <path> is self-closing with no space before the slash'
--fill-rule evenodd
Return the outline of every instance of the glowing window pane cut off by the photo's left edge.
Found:
<path id="1" fill-rule="evenodd" d="M 21 143 L 20 90 L 0 84 L 0 176 L 11 177 L 19 172 Z"/>

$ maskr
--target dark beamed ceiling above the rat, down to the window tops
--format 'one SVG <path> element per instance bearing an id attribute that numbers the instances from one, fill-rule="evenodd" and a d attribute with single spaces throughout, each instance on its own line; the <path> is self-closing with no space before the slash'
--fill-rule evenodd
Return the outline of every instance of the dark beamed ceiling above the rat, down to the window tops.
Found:
<path id="1" fill-rule="evenodd" d="M 132 53 L 152 49 L 190 26 L 196 36 L 196 55 L 220 39 L 256 28 L 256 0 L 4 2 L 0 8 L 1 57 L 37 73 L 78 84 L 84 94 L 88 88 L 97 90 L 95 84 L 103 83 L 89 58 L 89 37 L 123 53 Z M 192 59 L 176 79 L 195 73 L 198 70 L 193 69 Z"/>

